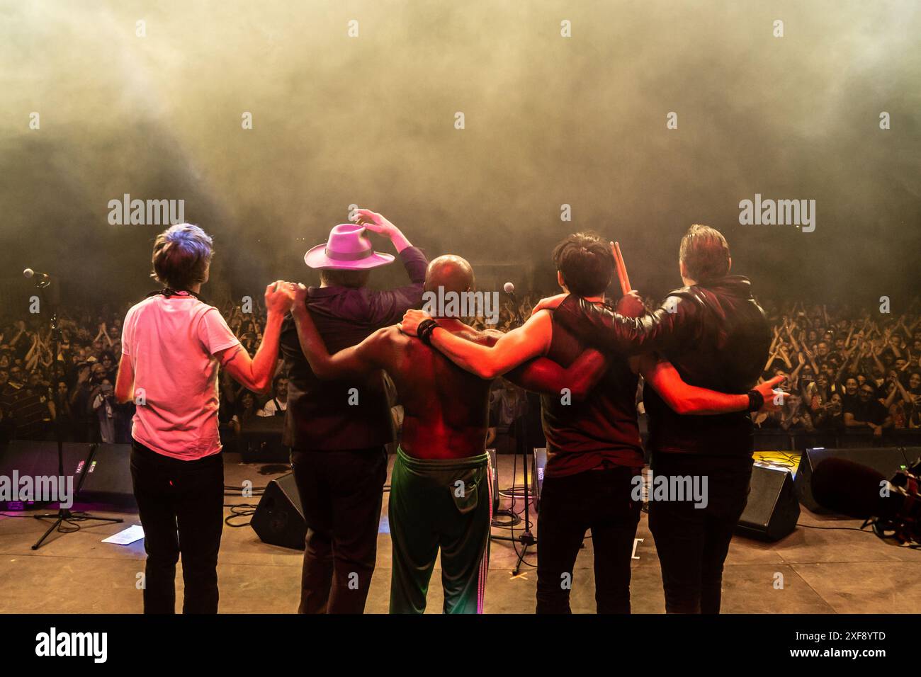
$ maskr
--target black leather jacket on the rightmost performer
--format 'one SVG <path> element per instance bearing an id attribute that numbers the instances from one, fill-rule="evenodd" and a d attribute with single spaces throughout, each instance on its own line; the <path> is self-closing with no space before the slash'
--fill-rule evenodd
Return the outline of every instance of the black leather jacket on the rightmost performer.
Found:
<path id="1" fill-rule="evenodd" d="M 751 283 L 728 275 L 669 292 L 662 306 L 627 318 L 570 295 L 556 321 L 587 344 L 626 355 L 656 351 L 685 382 L 714 391 L 752 389 L 764 368 L 771 333 Z M 644 392 L 653 451 L 742 455 L 752 450 L 752 420 L 745 412 L 675 414 L 650 386 Z"/>

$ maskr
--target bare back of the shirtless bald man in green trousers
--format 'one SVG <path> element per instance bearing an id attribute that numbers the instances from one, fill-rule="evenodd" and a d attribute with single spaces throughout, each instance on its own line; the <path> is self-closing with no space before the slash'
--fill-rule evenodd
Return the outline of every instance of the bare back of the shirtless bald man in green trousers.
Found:
<path id="1" fill-rule="evenodd" d="M 490 339 L 458 321 L 441 326 L 480 344 Z M 491 381 L 457 367 L 437 350 L 393 326 L 381 331 L 375 353 L 400 393 L 401 447 L 422 459 L 454 459 L 484 452 Z"/>

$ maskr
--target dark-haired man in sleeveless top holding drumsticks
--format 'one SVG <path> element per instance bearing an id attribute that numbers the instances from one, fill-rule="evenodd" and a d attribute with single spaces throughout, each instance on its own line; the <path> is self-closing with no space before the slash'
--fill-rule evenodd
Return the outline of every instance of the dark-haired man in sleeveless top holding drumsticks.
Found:
<path id="1" fill-rule="evenodd" d="M 571 235 L 554 250 L 554 261 L 560 266 L 557 281 L 567 293 L 568 282 L 575 280 L 583 291 L 594 292 L 587 302 L 603 303 L 614 269 L 609 245 L 591 233 Z M 619 307 L 636 313 L 642 309 L 637 303 L 635 295 L 626 296 Z M 410 310 L 402 330 L 418 333 L 426 319 L 425 313 Z M 538 356 L 568 367 L 586 349 L 547 309 L 535 312 L 493 346 L 464 341 L 431 325 L 428 336 L 457 365 L 484 379 Z M 538 613 L 569 613 L 573 566 L 589 529 L 598 611 L 630 611 L 630 558 L 641 506 L 634 488 L 643 468 L 635 408 L 637 368 L 623 353 L 608 356 L 599 384 L 584 402 L 571 402 L 565 391 L 542 396 L 547 465 L 538 515 Z M 643 375 L 682 413 L 742 411 L 750 405 L 746 395 L 689 388 L 664 361 L 644 368 Z"/>

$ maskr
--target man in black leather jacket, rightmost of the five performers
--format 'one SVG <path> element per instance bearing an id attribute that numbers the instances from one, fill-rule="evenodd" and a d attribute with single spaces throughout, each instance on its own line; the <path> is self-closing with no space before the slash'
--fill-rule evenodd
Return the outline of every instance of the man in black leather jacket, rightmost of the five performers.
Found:
<path id="1" fill-rule="evenodd" d="M 577 295 L 544 299 L 537 308 L 555 307 L 554 319 L 586 344 L 622 355 L 646 353 L 657 363 L 668 359 L 688 383 L 747 396 L 752 405 L 744 409 L 753 411 L 765 395 L 771 399 L 764 384 L 749 390 L 761 374 L 771 337 L 751 283 L 730 276 L 731 265 L 722 234 L 694 225 L 679 251 L 685 286 L 671 291 L 656 311 L 624 317 Z M 655 383 L 647 383 L 651 468 L 657 476 L 706 477 L 709 492 L 705 508 L 689 501 L 650 502 L 666 611 L 718 613 L 723 562 L 748 500 L 752 420 L 745 411 L 682 416 L 662 395 Z"/>

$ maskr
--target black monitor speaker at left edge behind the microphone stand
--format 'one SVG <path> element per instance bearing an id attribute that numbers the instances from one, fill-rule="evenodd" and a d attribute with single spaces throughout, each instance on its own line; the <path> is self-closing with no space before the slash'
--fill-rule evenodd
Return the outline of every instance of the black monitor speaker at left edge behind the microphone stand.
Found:
<path id="1" fill-rule="evenodd" d="M 80 491 L 87 461 L 92 455 L 94 445 L 82 442 L 64 442 L 62 447 L 64 455 L 64 477 L 74 477 L 74 493 Z M 13 478 L 25 477 L 56 477 L 58 475 L 57 442 L 32 441 L 17 439 L 4 447 L 0 447 L 0 475 Z M 35 501 L 0 501 L 0 506 L 6 510 L 23 510 Z"/>

